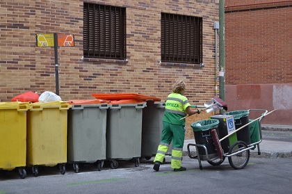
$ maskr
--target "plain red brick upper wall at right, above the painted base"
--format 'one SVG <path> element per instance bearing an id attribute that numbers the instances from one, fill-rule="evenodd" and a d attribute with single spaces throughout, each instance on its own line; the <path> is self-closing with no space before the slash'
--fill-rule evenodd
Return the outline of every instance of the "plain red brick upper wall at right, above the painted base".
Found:
<path id="1" fill-rule="evenodd" d="M 226 84 L 292 83 L 292 1 L 226 1 Z"/>

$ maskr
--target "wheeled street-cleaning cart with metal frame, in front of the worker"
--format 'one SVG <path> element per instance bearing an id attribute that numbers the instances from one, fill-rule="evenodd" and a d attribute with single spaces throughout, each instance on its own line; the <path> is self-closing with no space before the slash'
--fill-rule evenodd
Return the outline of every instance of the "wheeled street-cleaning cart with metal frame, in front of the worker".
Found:
<path id="1" fill-rule="evenodd" d="M 220 122 L 225 122 L 222 123 L 220 126 L 223 128 L 219 128 L 219 120 L 218 120 L 218 126 L 211 125 L 209 122 L 203 120 L 203 121 L 198 121 L 194 122 L 191 124 L 191 127 L 193 130 L 199 130 L 199 129 L 204 129 L 207 128 L 210 131 L 210 136 L 209 134 L 207 136 L 202 136 L 201 138 L 206 140 L 204 142 L 197 142 L 196 144 L 190 143 L 187 146 L 188 149 L 188 156 L 191 159 L 198 159 L 200 169 L 202 170 L 202 163 L 201 160 L 208 161 L 211 165 L 220 165 L 225 158 L 228 158 L 229 164 L 232 166 L 234 169 L 243 169 L 245 166 L 248 164 L 248 161 L 250 159 L 250 149 L 254 149 L 254 147 L 257 145 L 258 147 L 258 154 L 261 154 L 259 150 L 259 143 L 261 143 L 261 128 L 260 122 L 263 117 L 266 115 L 273 113 L 275 110 L 268 112 L 267 110 L 262 110 L 262 109 L 250 109 L 250 111 L 256 111 L 261 113 L 261 116 L 259 118 L 256 118 L 254 120 L 251 120 L 250 122 L 243 124 L 241 127 L 238 129 L 230 129 L 231 131 L 226 131 L 229 130 L 228 127 L 226 127 L 225 124 L 228 126 L 228 121 L 227 118 L 229 118 L 230 115 L 214 115 L 212 118 L 216 119 L 210 119 L 210 120 L 218 120 L 220 118 Z M 232 116 L 233 117 L 233 116 Z M 257 122 L 258 124 L 254 124 Z M 202 127 L 199 127 L 197 124 L 201 124 Z M 215 122 L 214 122 L 215 123 Z M 232 121 L 230 121 L 232 123 Z M 255 134 L 258 134 L 259 137 L 257 137 L 258 141 L 254 141 L 250 144 L 246 143 L 243 140 L 238 140 L 237 132 L 240 131 L 241 129 L 244 129 L 246 126 L 254 124 L 254 127 L 259 127 L 256 130 L 257 132 L 254 132 Z M 233 125 L 233 123 L 232 123 Z M 225 126 L 225 127 L 224 127 Z M 254 128 L 253 127 L 253 128 Z M 213 129 L 212 129 L 213 128 Z M 232 127 L 233 128 L 233 127 Z M 211 130 L 210 130 L 211 129 Z M 214 135 L 215 134 L 215 135 Z M 227 135 L 225 135 L 227 134 Z M 236 136 L 234 136 L 236 135 Z M 195 134 L 196 136 L 196 134 Z M 208 138 L 207 138 L 208 137 Z M 237 140 L 236 140 L 237 138 Z M 225 140 L 225 144 L 223 141 Z M 227 140 L 227 141 L 226 141 Z M 236 141 L 235 141 L 236 140 Z M 234 142 L 235 141 L 235 142 Z M 196 155 L 192 155 L 190 153 L 190 147 L 195 146 L 197 150 Z M 203 156 L 202 156 L 203 155 Z"/>

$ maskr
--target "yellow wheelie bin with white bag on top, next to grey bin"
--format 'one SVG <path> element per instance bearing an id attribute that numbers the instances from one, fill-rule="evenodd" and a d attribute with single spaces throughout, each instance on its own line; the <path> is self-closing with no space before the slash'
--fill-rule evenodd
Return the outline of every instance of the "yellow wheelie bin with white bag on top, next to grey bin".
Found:
<path id="1" fill-rule="evenodd" d="M 36 102 L 27 114 L 26 165 L 38 177 L 38 166 L 59 165 L 65 174 L 67 163 L 67 110 L 63 101 Z"/>

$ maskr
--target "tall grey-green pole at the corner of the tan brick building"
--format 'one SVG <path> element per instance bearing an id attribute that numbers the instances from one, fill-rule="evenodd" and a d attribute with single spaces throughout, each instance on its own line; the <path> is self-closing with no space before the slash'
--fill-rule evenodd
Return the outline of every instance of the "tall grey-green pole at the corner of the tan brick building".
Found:
<path id="1" fill-rule="evenodd" d="M 225 101 L 225 1 L 219 1 L 219 97 Z M 220 113 L 223 111 L 220 110 Z"/>

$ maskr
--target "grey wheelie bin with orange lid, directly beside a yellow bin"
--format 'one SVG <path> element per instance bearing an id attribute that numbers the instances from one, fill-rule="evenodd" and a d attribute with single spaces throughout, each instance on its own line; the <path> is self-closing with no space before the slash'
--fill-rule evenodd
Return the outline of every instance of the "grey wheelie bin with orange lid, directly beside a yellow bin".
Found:
<path id="1" fill-rule="evenodd" d="M 79 163 L 96 163 L 102 170 L 106 159 L 106 112 L 108 104 L 87 104 L 91 100 L 71 101 L 68 110 L 67 163 L 79 172 Z"/>

